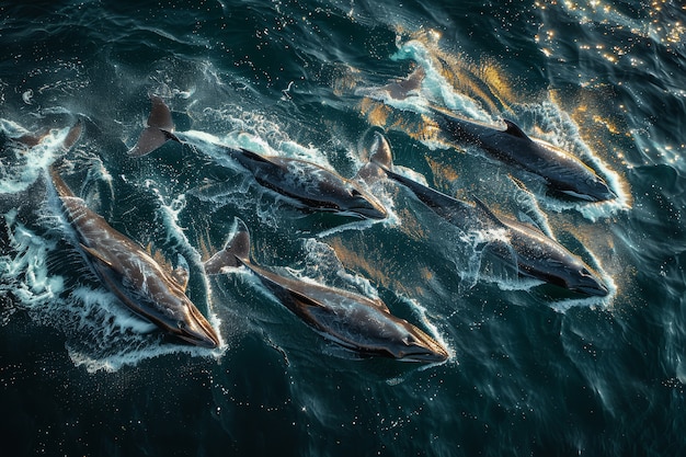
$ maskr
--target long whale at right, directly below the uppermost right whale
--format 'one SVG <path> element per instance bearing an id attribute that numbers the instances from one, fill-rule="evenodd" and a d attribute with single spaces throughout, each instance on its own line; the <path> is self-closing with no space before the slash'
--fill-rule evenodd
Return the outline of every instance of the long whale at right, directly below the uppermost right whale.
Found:
<path id="1" fill-rule="evenodd" d="M 521 276 L 586 296 L 608 295 L 608 288 L 593 269 L 539 228 L 496 215 L 476 196 L 473 203 L 464 202 L 393 172 L 391 147 L 379 129 L 369 130 L 362 144 L 369 161 L 359 170 L 359 179 L 373 183 L 387 178 L 402 184 L 435 214 L 461 230 L 501 230 L 505 240 L 490 241 L 490 251 L 503 261 L 514 258 Z"/>

